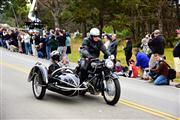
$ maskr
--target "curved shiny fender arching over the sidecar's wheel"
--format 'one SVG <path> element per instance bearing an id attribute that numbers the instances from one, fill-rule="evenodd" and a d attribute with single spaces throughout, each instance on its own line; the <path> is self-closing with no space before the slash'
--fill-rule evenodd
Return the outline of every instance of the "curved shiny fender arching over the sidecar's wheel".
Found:
<path id="1" fill-rule="evenodd" d="M 31 82 L 33 80 L 35 74 L 37 74 L 38 71 L 40 71 L 40 73 L 42 74 L 43 81 L 45 83 L 48 83 L 48 71 L 47 71 L 47 68 L 46 68 L 46 66 L 44 66 L 41 63 L 36 63 L 35 66 L 31 69 L 27 81 Z"/>

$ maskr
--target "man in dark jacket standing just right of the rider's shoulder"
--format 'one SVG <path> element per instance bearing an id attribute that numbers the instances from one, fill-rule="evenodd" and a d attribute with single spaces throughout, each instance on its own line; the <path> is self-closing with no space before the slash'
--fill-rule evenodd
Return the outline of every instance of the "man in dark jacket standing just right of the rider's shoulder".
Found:
<path id="1" fill-rule="evenodd" d="M 111 55 L 114 55 L 114 63 L 116 63 L 116 56 L 117 56 L 117 46 L 118 46 L 118 42 L 116 40 L 116 34 L 112 35 L 112 41 L 109 44 L 109 52 Z"/>

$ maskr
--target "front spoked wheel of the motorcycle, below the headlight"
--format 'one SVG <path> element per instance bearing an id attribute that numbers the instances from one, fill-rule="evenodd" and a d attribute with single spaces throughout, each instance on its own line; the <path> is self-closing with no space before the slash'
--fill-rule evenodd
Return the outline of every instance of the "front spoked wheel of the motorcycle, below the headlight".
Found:
<path id="1" fill-rule="evenodd" d="M 109 105 L 114 105 L 119 101 L 121 89 L 118 79 L 109 78 L 106 80 L 106 89 L 103 91 L 104 100 Z"/>

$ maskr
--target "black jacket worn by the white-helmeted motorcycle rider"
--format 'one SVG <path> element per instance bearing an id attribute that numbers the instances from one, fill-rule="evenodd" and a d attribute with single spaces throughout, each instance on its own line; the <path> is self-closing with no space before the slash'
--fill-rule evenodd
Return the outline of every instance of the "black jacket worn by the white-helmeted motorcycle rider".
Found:
<path id="1" fill-rule="evenodd" d="M 110 55 L 101 40 L 94 42 L 91 37 L 85 38 L 83 40 L 82 49 L 80 50 L 82 57 L 98 58 L 100 55 L 100 51 L 104 53 L 105 58 Z"/>

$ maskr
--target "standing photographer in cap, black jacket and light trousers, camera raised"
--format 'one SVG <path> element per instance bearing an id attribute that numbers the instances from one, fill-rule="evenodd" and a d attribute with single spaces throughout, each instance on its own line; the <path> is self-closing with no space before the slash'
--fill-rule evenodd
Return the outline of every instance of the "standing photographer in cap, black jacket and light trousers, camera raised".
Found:
<path id="1" fill-rule="evenodd" d="M 154 54 L 159 54 L 160 57 L 164 57 L 164 47 L 165 47 L 165 39 L 160 34 L 159 30 L 155 30 L 153 32 L 154 38 L 149 41 L 148 45 L 152 50 L 152 55 L 149 61 L 149 67 L 153 68 L 155 66 Z"/>

